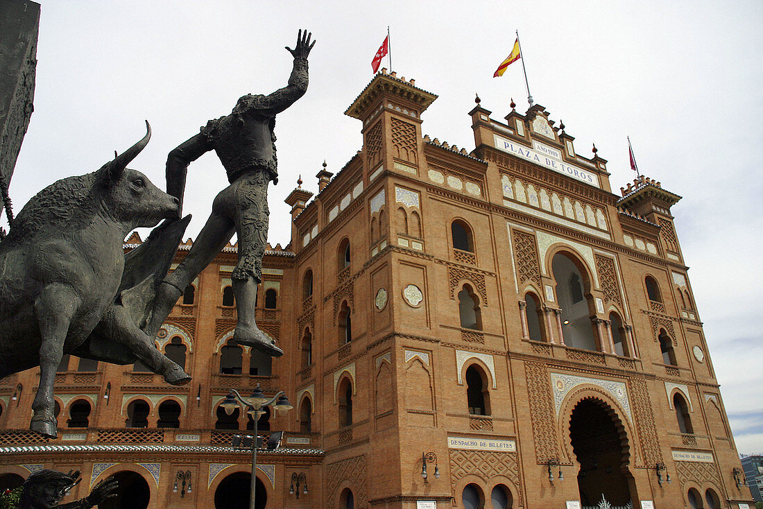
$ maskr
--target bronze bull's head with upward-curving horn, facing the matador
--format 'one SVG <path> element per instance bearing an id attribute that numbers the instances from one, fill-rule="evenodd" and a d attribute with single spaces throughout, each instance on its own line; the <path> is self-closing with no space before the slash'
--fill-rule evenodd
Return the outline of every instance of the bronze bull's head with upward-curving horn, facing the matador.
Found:
<path id="1" fill-rule="evenodd" d="M 164 218 L 177 218 L 180 214 L 178 198 L 161 191 L 143 173 L 127 168 L 150 137 L 151 126 L 146 121 L 146 136 L 97 172 L 104 192 L 105 213 L 123 223 L 127 230 L 153 227 Z"/>

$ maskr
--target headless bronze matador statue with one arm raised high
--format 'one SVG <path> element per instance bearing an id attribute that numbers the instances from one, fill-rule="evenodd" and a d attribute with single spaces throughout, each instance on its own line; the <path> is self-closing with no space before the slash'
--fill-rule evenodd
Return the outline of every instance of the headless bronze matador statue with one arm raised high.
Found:
<path id="1" fill-rule="evenodd" d="M 307 90 L 307 55 L 315 42 L 299 31 L 294 69 L 288 85 L 270 95 L 244 95 L 233 112 L 201 127 L 201 132 L 169 153 L 167 192 L 182 200 L 188 164 L 214 150 L 220 157 L 230 185 L 212 203 L 212 214 L 201 229 L 188 256 L 160 283 L 146 333 L 156 336 L 183 290 L 204 267 L 238 235 L 238 263 L 233 270 L 233 295 L 238 323 L 233 340 L 270 356 L 283 350 L 257 327 L 254 306 L 262 279 L 262 255 L 268 237 L 268 184 L 278 182 L 275 157 L 275 115 L 291 106 Z"/>

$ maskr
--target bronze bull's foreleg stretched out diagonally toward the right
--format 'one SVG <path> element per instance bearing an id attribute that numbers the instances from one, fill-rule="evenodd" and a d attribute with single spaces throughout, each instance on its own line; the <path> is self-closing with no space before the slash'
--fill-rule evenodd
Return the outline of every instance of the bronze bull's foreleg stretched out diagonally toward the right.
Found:
<path id="1" fill-rule="evenodd" d="M 109 335 L 130 349 L 151 371 L 164 376 L 171 385 L 184 385 L 191 377 L 175 362 L 156 350 L 153 338 L 140 330 L 127 311 L 121 306 L 111 306 L 101 319 L 99 327 L 108 327 Z"/>

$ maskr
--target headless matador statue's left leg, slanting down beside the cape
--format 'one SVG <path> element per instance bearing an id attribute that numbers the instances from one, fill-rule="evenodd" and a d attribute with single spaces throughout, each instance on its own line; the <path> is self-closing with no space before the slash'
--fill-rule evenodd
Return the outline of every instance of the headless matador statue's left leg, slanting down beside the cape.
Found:
<path id="1" fill-rule="evenodd" d="M 159 283 L 151 316 L 145 329 L 146 334 L 150 337 L 156 337 L 162 324 L 169 316 L 169 312 L 175 306 L 175 302 L 178 301 L 188 284 L 220 253 L 230 237 L 233 237 L 236 227 L 230 214 L 228 214 L 230 207 L 227 203 L 232 200 L 231 187 L 233 186 L 228 186 L 217 195 L 217 198 L 214 198 L 212 214 L 209 216 L 207 224 L 201 228 L 201 232 L 196 237 L 188 256 L 185 256 L 177 269 Z"/>

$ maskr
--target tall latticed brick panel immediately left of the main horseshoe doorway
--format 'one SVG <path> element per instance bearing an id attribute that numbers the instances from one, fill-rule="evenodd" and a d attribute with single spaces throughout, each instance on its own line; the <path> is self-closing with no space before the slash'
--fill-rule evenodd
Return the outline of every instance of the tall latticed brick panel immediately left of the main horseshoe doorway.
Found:
<path id="1" fill-rule="evenodd" d="M 533 424 L 535 457 L 539 463 L 559 456 L 556 450 L 556 427 L 552 411 L 549 371 L 546 364 L 525 362 L 527 395 L 530 397 L 530 420 Z"/>

